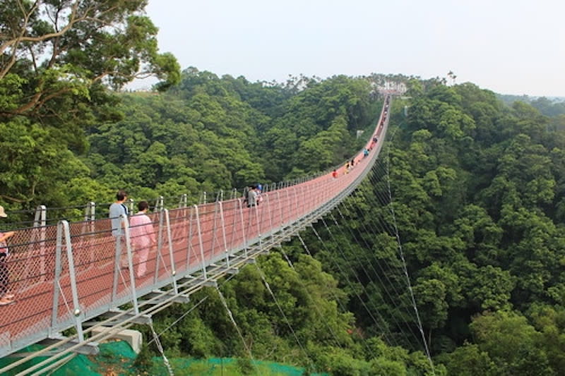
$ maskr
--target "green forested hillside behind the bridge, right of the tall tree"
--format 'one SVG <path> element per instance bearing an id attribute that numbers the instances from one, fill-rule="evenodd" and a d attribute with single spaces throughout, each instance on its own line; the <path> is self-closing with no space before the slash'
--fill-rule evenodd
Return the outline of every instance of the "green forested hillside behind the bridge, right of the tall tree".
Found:
<path id="1" fill-rule="evenodd" d="M 97 183 L 149 198 L 303 176 L 361 145 L 379 106 L 370 91 L 345 76 L 266 85 L 189 68 L 163 95 L 121 95 L 123 119 L 88 128 L 83 162 Z"/>

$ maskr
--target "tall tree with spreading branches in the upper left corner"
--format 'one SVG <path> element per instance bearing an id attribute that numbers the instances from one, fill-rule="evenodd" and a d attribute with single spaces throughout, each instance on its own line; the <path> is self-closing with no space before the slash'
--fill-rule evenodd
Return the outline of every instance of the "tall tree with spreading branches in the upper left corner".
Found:
<path id="1" fill-rule="evenodd" d="M 160 90 L 179 81 L 174 56 L 158 52 L 146 4 L 0 0 L 0 147 L 21 146 L 0 165 L 4 200 L 31 204 L 51 195 L 42 203 L 64 205 L 52 193 L 68 176 L 57 166 L 76 164 L 67 148 L 83 152 L 86 126 L 121 118 L 107 89 L 148 75 L 162 79 Z M 30 138 L 36 133 L 40 139 Z"/>

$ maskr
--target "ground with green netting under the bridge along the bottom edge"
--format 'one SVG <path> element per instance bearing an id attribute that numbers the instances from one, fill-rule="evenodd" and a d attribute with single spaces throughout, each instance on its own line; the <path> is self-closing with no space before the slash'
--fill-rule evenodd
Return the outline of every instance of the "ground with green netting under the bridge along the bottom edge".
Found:
<path id="1" fill-rule="evenodd" d="M 37 351 L 42 346 L 33 345 L 24 351 Z M 8 372 L 6 375 L 16 375 L 18 372 L 44 360 L 44 357 L 32 360 L 20 365 Z M 62 365 L 50 375 L 53 376 L 118 376 L 118 375 L 151 375 L 169 376 L 162 358 L 153 358 L 153 366 L 145 370 L 145 373 L 134 368 L 133 362 L 136 353 L 129 344 L 124 341 L 100 344 L 100 353 L 97 356 L 78 355 L 69 363 Z M 17 360 L 17 358 L 0 359 L 0 368 Z M 175 376 L 188 375 L 266 375 L 266 376 L 301 376 L 304 368 L 291 367 L 278 363 L 262 361 L 237 360 L 232 358 L 210 358 L 210 359 L 186 359 L 174 358 L 170 360 Z M 323 376 L 326 374 L 311 373 L 311 375 Z"/>

